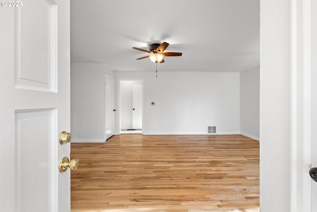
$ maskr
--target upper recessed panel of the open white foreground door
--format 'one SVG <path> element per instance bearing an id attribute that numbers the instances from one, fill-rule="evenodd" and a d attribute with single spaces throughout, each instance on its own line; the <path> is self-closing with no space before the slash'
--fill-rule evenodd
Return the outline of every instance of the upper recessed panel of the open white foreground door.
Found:
<path id="1" fill-rule="evenodd" d="M 56 12 L 56 5 L 46 0 L 30 1 L 28 6 L 17 8 L 16 86 L 47 90 L 56 88 Z"/>

